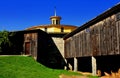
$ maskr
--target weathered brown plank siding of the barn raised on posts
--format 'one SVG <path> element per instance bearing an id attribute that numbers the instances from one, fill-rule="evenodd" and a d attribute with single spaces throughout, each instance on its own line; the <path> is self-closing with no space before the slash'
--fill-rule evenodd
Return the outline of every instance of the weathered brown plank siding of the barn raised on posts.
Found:
<path id="1" fill-rule="evenodd" d="M 120 21 L 111 15 L 65 39 L 65 58 L 120 54 Z"/>

